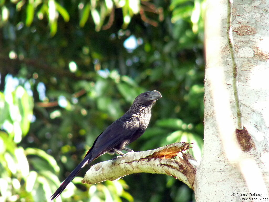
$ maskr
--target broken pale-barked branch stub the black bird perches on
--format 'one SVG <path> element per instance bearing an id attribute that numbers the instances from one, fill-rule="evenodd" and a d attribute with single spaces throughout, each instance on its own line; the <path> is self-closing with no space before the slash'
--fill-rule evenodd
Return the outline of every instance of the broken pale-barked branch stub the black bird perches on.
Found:
<path id="1" fill-rule="evenodd" d="M 82 183 L 95 184 L 116 180 L 132 173 L 159 173 L 173 176 L 187 184 L 194 184 L 197 162 L 183 151 L 191 148 L 186 142 L 177 142 L 149 151 L 129 152 L 116 159 L 97 163 L 87 171 Z M 182 152 L 183 159 L 171 159 Z"/>

